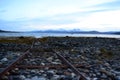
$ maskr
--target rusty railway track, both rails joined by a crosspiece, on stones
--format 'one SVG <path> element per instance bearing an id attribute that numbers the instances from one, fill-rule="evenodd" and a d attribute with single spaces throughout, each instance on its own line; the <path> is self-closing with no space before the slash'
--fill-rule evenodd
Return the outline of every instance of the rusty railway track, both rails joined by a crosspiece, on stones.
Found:
<path id="1" fill-rule="evenodd" d="M 53 53 L 56 53 L 56 55 L 58 56 L 58 58 L 64 62 L 64 65 L 46 65 L 46 66 L 27 66 L 27 65 L 20 65 L 17 66 L 16 64 L 21 61 L 23 58 L 25 58 L 26 55 L 29 54 L 30 50 L 33 48 L 34 43 L 36 40 L 33 41 L 31 47 L 20 57 L 18 57 L 14 62 L 12 62 L 10 65 L 8 65 L 6 68 L 4 68 L 1 72 L 0 72 L 0 79 L 2 78 L 3 75 L 5 75 L 8 71 L 12 70 L 15 67 L 18 68 L 29 68 L 29 69 L 33 69 L 33 68 L 45 68 L 45 67 L 49 67 L 49 68 L 71 68 L 73 70 L 73 72 L 79 77 L 79 80 L 87 80 L 86 77 L 81 74 L 78 69 L 76 67 L 85 67 L 81 64 L 75 64 L 72 65 L 68 60 L 66 60 L 62 55 L 60 55 L 59 53 L 51 50 Z"/>

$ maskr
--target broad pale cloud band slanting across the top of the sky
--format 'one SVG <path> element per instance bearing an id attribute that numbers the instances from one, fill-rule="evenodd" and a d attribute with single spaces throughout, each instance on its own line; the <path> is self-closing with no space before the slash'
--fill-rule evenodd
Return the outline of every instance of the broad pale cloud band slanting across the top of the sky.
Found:
<path id="1" fill-rule="evenodd" d="M 36 17 L 70 14 L 75 12 L 90 11 L 88 7 L 116 0 L 14 0 L 5 9 L 7 12 L 1 15 L 2 19 L 16 20 L 25 17 L 28 19 Z M 27 3 L 27 4 L 26 4 Z M 88 8 L 88 9 L 86 9 Z"/>

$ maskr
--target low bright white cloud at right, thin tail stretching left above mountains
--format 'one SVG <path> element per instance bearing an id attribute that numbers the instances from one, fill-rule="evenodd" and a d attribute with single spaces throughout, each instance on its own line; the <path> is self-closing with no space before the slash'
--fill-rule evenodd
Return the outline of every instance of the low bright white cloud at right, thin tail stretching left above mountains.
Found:
<path id="1" fill-rule="evenodd" d="M 87 16 L 84 19 L 76 19 L 76 23 L 71 24 L 59 24 L 59 25 L 29 25 L 36 29 L 74 29 L 79 28 L 82 30 L 98 30 L 98 31 L 119 31 L 120 30 L 120 10 L 96 12 Z"/>

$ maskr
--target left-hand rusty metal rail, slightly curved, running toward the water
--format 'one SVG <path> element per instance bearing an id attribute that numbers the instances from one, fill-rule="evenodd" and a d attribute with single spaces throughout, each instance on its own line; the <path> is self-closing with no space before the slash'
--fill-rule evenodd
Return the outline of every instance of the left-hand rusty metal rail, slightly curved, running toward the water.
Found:
<path id="1" fill-rule="evenodd" d="M 34 42 L 35 41 L 32 42 L 31 47 L 23 55 L 18 57 L 14 62 L 12 62 L 10 65 L 8 65 L 7 67 L 5 67 L 4 69 L 1 70 L 0 80 L 1 80 L 3 75 L 5 75 L 9 70 L 13 69 L 15 67 L 15 65 L 29 53 L 30 49 L 33 48 Z"/>

